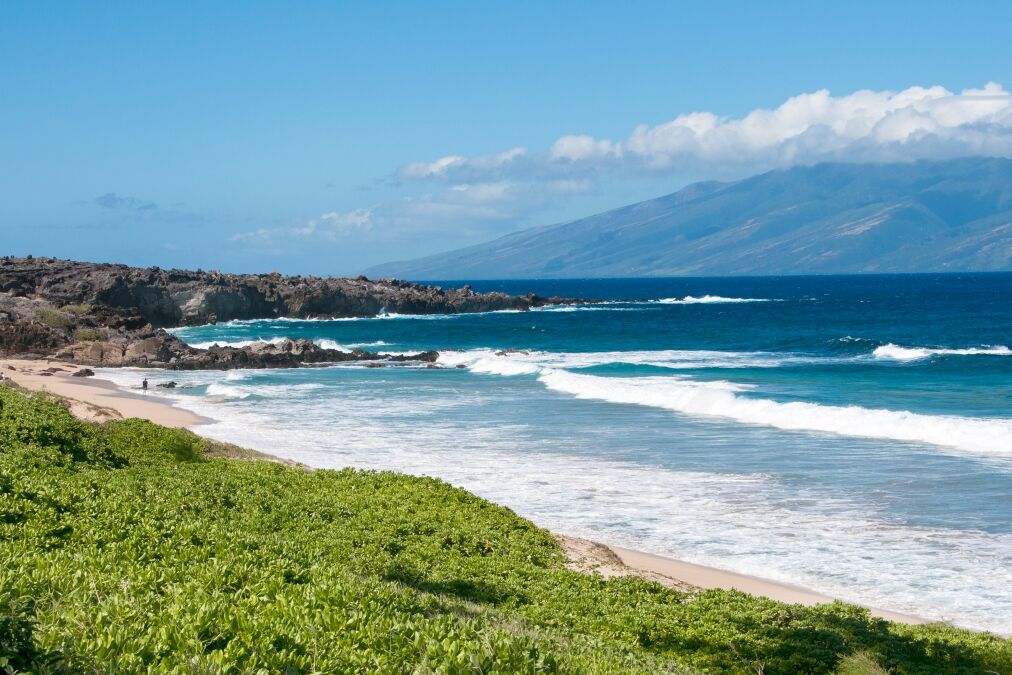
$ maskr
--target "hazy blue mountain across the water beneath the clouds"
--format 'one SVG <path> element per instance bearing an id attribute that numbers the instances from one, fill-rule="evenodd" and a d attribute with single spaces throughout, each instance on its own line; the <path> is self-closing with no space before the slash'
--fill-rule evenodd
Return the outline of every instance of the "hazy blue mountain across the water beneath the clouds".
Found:
<path id="1" fill-rule="evenodd" d="M 1012 160 L 820 164 L 705 182 L 373 267 L 413 279 L 1012 270 Z"/>

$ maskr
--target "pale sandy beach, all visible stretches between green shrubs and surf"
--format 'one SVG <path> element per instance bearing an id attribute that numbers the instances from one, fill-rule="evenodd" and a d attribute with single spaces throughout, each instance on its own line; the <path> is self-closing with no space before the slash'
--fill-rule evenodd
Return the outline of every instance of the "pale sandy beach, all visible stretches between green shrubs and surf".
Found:
<path id="1" fill-rule="evenodd" d="M 14 366 L 9 368 L 9 366 Z M 198 432 L 197 427 L 210 422 L 159 397 L 136 394 L 97 376 L 74 377 L 81 366 L 48 358 L 25 360 L 0 359 L 0 372 L 13 384 L 36 392 L 47 392 L 66 399 L 71 412 L 84 420 L 104 422 L 110 419 L 139 417 L 162 426 Z M 47 373 L 47 371 L 49 372 Z M 274 461 L 290 463 L 281 457 L 257 451 Z M 640 577 L 665 586 L 689 589 L 739 590 L 788 604 L 816 605 L 834 598 L 791 584 L 696 565 L 655 554 L 610 545 L 554 532 L 571 559 L 570 568 L 603 577 Z M 845 602 L 851 602 L 845 600 Z M 858 604 L 851 602 L 851 604 Z M 908 624 L 933 622 L 921 616 L 868 607 L 872 616 Z"/>

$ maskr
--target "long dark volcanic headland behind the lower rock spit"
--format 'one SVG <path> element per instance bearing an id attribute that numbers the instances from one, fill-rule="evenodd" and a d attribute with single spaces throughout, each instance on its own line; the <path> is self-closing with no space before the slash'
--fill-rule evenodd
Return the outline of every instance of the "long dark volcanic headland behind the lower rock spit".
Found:
<path id="1" fill-rule="evenodd" d="M 526 310 L 562 299 L 478 293 L 470 286 L 443 289 L 407 281 L 271 274 L 139 269 L 57 260 L 0 260 L 0 292 L 44 299 L 56 306 L 109 308 L 103 326 L 192 326 L 233 319 L 368 317 L 381 312 L 456 314 Z M 103 310 L 104 311 L 104 310 Z M 134 317 L 134 319 L 131 319 Z M 143 324 L 142 324 L 143 325 Z"/>

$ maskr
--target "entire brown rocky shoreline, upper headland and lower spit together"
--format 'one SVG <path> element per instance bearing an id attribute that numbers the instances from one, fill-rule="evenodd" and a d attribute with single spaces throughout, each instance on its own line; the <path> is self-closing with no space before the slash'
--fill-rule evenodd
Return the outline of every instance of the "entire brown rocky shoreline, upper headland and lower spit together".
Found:
<path id="1" fill-rule="evenodd" d="M 88 366 L 175 370 L 300 367 L 342 361 L 421 361 L 326 349 L 309 340 L 190 347 L 167 328 L 220 321 L 337 319 L 381 313 L 462 314 L 572 302 L 533 293 L 480 293 L 396 279 L 224 274 L 158 267 L 0 258 L 0 356 L 53 357 Z"/>

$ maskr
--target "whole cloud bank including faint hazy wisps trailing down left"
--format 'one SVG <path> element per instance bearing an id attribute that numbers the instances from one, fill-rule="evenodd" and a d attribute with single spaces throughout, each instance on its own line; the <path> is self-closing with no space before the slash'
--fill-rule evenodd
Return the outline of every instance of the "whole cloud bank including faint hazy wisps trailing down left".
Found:
<path id="1" fill-rule="evenodd" d="M 514 147 L 414 162 L 395 174 L 403 181 L 423 181 L 426 186 L 414 194 L 402 192 L 371 208 L 327 212 L 233 239 L 309 246 L 437 235 L 463 242 L 531 224 L 534 215 L 572 214 L 579 199 L 599 194 L 605 180 L 642 181 L 653 174 L 646 176 L 648 182 L 674 188 L 685 180 L 734 179 L 822 161 L 967 155 L 1012 157 L 1012 94 L 998 84 L 958 93 L 934 86 L 834 96 L 824 89 L 737 117 L 686 112 L 659 124 L 640 124 L 620 140 L 573 134 L 539 152 Z M 102 199 L 117 204 L 114 197 Z"/>

